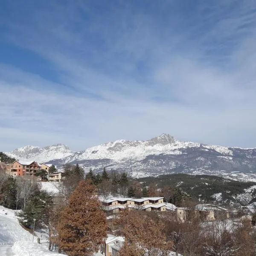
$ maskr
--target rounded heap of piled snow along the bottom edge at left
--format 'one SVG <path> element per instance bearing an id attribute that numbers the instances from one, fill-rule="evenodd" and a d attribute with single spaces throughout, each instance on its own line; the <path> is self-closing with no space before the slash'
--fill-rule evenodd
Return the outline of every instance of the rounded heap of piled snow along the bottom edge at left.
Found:
<path id="1" fill-rule="evenodd" d="M 59 253 L 50 252 L 40 244 L 29 242 L 15 242 L 12 247 L 15 256 L 60 256 Z"/>

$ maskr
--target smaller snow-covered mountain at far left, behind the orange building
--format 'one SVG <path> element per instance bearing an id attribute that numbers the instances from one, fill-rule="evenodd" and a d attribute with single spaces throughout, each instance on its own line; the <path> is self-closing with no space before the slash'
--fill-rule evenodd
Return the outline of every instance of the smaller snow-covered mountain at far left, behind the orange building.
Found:
<path id="1" fill-rule="evenodd" d="M 64 144 L 55 144 L 44 148 L 27 145 L 22 148 L 16 148 L 12 152 L 6 154 L 20 161 L 35 160 L 38 163 L 44 163 L 67 157 L 70 154 L 73 154 L 73 151 Z"/>

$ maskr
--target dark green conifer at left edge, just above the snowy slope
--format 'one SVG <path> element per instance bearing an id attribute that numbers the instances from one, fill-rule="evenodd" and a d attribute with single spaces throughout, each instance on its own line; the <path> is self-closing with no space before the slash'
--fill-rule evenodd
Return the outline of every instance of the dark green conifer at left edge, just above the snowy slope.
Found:
<path id="1" fill-rule="evenodd" d="M 16 207 L 16 186 L 12 176 L 6 177 L 3 181 L 0 189 L 0 204 L 9 209 Z"/>

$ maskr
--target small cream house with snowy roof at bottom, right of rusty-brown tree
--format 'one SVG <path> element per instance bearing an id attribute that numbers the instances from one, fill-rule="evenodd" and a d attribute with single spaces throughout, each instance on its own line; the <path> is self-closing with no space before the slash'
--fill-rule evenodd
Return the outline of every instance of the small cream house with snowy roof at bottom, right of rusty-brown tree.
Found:
<path id="1" fill-rule="evenodd" d="M 107 239 L 100 245 L 100 253 L 104 256 L 118 256 L 125 238 L 108 234 Z"/>

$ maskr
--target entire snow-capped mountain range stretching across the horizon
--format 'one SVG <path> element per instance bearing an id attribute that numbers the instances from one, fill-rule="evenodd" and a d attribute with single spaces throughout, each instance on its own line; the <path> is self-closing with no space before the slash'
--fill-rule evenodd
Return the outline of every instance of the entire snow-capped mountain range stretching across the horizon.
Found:
<path id="1" fill-rule="evenodd" d="M 53 163 L 59 169 L 65 163 L 79 163 L 86 172 L 90 168 L 102 171 L 105 166 L 133 177 L 183 172 L 256 181 L 256 148 L 184 142 L 169 134 L 150 140 L 116 140 L 78 152 L 56 144 L 44 148 L 25 146 L 6 154 L 19 160 Z"/>

